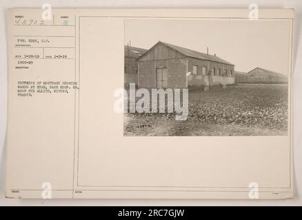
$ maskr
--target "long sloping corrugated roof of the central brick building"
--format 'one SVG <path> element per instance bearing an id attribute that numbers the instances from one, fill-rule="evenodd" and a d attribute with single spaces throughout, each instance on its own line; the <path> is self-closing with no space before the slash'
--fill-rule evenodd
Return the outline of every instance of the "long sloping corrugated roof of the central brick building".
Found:
<path id="1" fill-rule="evenodd" d="M 228 61 L 223 60 L 222 58 L 219 58 L 218 56 L 204 54 L 204 53 L 201 53 L 201 52 L 198 52 L 195 50 L 190 50 L 190 49 L 187 49 L 184 47 L 172 45 L 170 43 L 164 43 L 162 41 L 159 41 L 159 43 L 162 43 L 163 45 L 166 45 L 167 47 L 170 47 L 173 50 L 176 50 L 177 52 L 179 52 L 185 56 L 190 56 L 192 58 L 197 58 L 197 59 L 201 59 L 201 60 L 205 60 L 205 61 L 215 61 L 215 62 L 224 63 L 224 64 L 228 64 L 228 65 L 234 65 Z"/>

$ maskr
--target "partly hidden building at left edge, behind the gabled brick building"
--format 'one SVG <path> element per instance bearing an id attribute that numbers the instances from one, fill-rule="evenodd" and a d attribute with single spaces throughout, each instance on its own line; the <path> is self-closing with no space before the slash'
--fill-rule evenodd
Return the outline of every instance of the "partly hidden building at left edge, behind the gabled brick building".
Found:
<path id="1" fill-rule="evenodd" d="M 137 58 L 144 54 L 147 50 L 139 47 L 131 47 L 125 45 L 124 54 L 124 83 L 129 85 L 129 83 L 137 84 Z"/>

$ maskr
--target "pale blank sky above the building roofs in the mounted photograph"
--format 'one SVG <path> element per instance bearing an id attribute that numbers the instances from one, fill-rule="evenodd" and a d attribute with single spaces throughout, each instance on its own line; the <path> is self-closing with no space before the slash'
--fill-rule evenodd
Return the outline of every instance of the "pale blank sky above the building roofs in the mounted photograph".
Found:
<path id="1" fill-rule="evenodd" d="M 217 56 L 236 71 L 255 67 L 288 74 L 289 21 L 125 20 L 125 45 L 149 49 L 163 41 Z"/>

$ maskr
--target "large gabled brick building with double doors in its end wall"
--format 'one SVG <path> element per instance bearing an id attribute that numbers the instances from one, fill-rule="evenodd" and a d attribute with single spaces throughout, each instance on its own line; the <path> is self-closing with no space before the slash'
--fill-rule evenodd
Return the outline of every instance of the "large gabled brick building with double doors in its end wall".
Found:
<path id="1" fill-rule="evenodd" d="M 159 41 L 139 57 L 139 87 L 186 88 L 234 84 L 234 65 L 204 54 Z"/>

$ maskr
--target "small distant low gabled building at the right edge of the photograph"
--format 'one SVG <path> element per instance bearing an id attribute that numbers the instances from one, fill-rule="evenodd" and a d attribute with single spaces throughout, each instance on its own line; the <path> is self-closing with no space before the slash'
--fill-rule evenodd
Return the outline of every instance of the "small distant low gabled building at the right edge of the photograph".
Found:
<path id="1" fill-rule="evenodd" d="M 256 67 L 248 72 L 249 83 L 288 83 L 288 76 Z"/>

